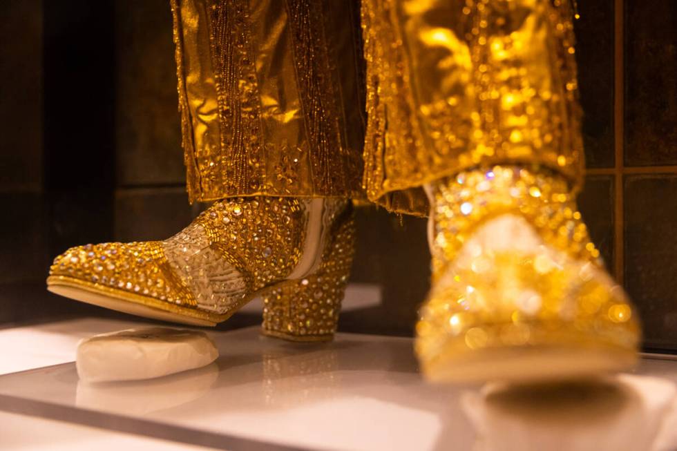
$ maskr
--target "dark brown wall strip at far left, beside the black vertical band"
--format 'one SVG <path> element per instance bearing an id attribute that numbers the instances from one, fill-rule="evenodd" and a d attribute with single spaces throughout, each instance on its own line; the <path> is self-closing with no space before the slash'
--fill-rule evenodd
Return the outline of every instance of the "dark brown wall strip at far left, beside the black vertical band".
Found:
<path id="1" fill-rule="evenodd" d="M 44 274 L 39 0 L 0 2 L 0 84 L 0 284 L 5 284 Z"/>

